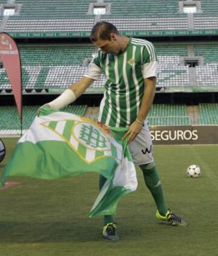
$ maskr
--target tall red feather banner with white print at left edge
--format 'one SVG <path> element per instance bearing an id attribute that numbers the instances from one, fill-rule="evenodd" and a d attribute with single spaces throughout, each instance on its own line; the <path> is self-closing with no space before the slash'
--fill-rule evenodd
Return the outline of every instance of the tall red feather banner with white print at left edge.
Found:
<path id="1" fill-rule="evenodd" d="M 0 58 L 12 85 L 15 102 L 21 119 L 22 130 L 22 75 L 21 58 L 15 40 L 7 33 L 0 33 Z"/>

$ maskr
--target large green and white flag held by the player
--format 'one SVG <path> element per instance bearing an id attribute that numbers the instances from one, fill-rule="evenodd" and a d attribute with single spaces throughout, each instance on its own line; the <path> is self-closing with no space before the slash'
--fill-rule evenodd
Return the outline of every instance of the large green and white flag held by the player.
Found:
<path id="1" fill-rule="evenodd" d="M 41 109 L 4 168 L 8 176 L 58 179 L 97 172 L 107 178 L 89 216 L 116 213 L 119 199 L 136 190 L 127 143 L 107 126 L 67 112 Z"/>

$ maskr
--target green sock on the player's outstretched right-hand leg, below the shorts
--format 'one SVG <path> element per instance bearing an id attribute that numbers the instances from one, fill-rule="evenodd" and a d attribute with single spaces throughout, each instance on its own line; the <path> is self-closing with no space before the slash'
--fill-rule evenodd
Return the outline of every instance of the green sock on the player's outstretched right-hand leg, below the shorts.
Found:
<path id="1" fill-rule="evenodd" d="M 145 184 L 156 202 L 158 212 L 160 215 L 165 216 L 168 211 L 168 207 L 165 205 L 162 185 L 154 163 L 142 164 L 139 165 L 139 167 L 143 172 Z"/>

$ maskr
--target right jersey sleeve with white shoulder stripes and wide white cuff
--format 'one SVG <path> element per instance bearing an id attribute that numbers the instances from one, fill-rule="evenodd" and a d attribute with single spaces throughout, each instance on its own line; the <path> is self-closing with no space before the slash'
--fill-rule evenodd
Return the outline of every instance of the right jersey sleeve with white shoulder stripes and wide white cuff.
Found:
<path id="1" fill-rule="evenodd" d="M 142 74 L 144 78 L 157 77 L 157 55 L 154 45 L 150 42 L 142 52 Z"/>

